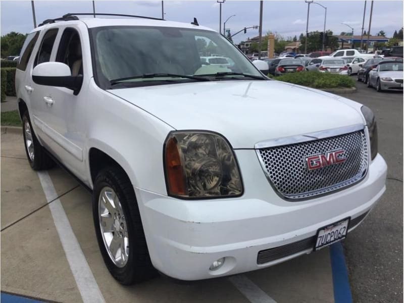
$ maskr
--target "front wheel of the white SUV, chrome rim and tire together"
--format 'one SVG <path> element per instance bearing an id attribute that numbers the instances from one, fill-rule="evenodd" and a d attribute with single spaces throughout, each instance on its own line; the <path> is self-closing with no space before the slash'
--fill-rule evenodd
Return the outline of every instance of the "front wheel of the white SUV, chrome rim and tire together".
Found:
<path id="1" fill-rule="evenodd" d="M 108 202 L 103 203 L 103 200 L 108 200 L 108 196 L 115 197 L 115 207 Z M 123 285 L 155 277 L 157 271 L 148 254 L 133 185 L 122 169 L 108 167 L 98 173 L 94 181 L 92 212 L 98 246 L 111 275 Z M 114 216 L 116 220 L 113 219 Z M 100 220 L 106 222 L 104 226 L 100 224 Z M 110 244 L 106 236 L 112 236 Z M 120 245 L 115 252 L 110 248 L 113 241 Z M 122 250 L 122 246 L 125 249 Z M 118 252 L 118 258 L 112 257 L 119 255 Z"/>

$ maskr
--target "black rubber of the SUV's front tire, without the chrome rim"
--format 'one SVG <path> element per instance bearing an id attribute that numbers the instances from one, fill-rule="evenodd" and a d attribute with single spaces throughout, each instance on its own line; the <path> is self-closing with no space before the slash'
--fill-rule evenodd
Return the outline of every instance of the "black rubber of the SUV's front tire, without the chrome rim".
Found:
<path id="1" fill-rule="evenodd" d="M 118 267 L 111 260 L 100 230 L 98 198 L 102 189 L 106 186 L 115 191 L 122 206 L 125 219 L 127 218 L 129 254 L 127 263 L 123 267 Z M 92 194 L 92 212 L 98 246 L 111 275 L 123 285 L 131 285 L 155 277 L 157 271 L 151 264 L 148 254 L 133 185 L 121 168 L 108 167 L 100 171 L 96 176 Z"/>

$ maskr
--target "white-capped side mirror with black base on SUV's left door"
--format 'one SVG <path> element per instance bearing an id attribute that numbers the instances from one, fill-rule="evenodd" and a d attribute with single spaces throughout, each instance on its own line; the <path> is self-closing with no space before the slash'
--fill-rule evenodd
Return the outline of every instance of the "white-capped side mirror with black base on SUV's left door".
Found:
<path id="1" fill-rule="evenodd" d="M 72 76 L 70 67 L 61 62 L 45 62 L 32 70 L 32 80 L 39 85 L 66 87 L 77 95 L 83 84 L 83 76 Z"/>

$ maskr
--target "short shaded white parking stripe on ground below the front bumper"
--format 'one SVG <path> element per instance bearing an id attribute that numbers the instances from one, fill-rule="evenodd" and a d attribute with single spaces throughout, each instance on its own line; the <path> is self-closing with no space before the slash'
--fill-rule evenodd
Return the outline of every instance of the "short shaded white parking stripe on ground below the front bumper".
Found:
<path id="1" fill-rule="evenodd" d="M 273 298 L 245 275 L 232 276 L 229 277 L 229 280 L 251 303 L 276 303 Z"/>

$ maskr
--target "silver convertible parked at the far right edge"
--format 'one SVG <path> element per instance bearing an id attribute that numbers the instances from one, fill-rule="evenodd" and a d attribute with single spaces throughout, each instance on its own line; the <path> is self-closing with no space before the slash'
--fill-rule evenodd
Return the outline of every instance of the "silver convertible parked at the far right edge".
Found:
<path id="1" fill-rule="evenodd" d="M 382 61 L 369 72 L 368 87 L 383 90 L 402 90 L 402 62 Z"/>

